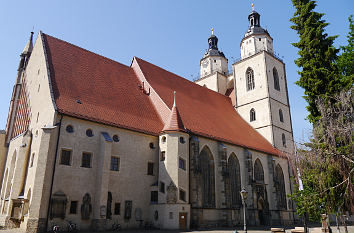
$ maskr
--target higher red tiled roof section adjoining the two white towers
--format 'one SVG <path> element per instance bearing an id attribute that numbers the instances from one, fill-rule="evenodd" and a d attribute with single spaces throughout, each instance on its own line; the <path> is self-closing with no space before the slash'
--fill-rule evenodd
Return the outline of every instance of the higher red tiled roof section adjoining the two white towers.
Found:
<path id="1" fill-rule="evenodd" d="M 280 151 L 242 119 L 229 97 L 136 59 L 146 80 L 167 106 L 172 106 L 173 91 L 178 93 L 179 113 L 187 130 L 197 135 L 282 156 Z"/>

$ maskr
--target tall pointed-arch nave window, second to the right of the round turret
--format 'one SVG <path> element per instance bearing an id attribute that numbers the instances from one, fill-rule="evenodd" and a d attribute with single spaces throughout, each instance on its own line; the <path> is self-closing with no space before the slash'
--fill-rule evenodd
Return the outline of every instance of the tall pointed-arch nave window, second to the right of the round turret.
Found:
<path id="1" fill-rule="evenodd" d="M 235 154 L 231 154 L 227 163 L 230 178 L 230 202 L 231 207 L 239 207 L 241 205 L 241 175 L 240 163 Z"/>

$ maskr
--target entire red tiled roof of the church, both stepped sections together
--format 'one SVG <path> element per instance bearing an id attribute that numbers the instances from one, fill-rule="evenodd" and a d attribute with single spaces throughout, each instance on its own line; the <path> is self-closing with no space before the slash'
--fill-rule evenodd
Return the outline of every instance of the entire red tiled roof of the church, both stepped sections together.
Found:
<path id="1" fill-rule="evenodd" d="M 41 35 L 58 112 L 152 135 L 164 129 L 157 108 L 138 87 L 141 83 L 131 67 Z M 167 106 L 173 105 L 173 92 L 177 91 L 178 109 L 171 109 L 170 114 L 173 127 L 177 122 L 177 128 L 182 125 L 192 134 L 283 156 L 241 118 L 229 97 L 135 59 Z"/>

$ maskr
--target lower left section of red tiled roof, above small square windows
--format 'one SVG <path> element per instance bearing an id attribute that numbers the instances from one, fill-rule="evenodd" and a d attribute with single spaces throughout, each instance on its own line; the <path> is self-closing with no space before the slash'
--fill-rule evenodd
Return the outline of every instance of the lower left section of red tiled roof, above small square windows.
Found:
<path id="1" fill-rule="evenodd" d="M 130 67 L 42 35 L 60 113 L 153 135 L 161 131 L 163 123 Z"/>

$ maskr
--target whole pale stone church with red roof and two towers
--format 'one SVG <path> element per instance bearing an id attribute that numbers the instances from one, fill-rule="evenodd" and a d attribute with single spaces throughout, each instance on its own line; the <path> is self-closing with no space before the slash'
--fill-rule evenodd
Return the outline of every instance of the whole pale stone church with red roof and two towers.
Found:
<path id="1" fill-rule="evenodd" d="M 203 229 L 294 221 L 285 64 L 248 16 L 229 70 L 212 31 L 191 82 L 39 32 L 0 131 L 0 226 L 45 232 Z"/>

